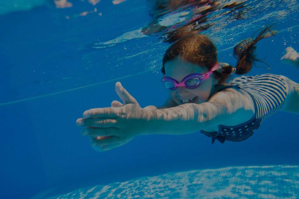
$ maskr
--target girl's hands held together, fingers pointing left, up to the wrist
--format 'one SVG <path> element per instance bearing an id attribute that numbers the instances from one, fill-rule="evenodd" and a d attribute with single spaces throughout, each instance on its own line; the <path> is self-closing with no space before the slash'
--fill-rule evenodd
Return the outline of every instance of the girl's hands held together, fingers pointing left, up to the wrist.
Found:
<path id="1" fill-rule="evenodd" d="M 86 126 L 83 135 L 91 138 L 91 144 L 97 151 L 107 151 L 122 146 L 140 135 L 146 120 L 136 99 L 129 94 L 120 82 L 115 84 L 115 91 L 123 100 L 112 101 L 107 108 L 89 109 L 83 113 L 83 118 L 76 123 Z"/>

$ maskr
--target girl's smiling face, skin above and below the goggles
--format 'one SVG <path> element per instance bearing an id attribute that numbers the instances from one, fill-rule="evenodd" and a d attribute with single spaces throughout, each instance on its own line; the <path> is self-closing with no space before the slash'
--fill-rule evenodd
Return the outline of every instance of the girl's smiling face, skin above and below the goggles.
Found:
<path id="1" fill-rule="evenodd" d="M 203 66 L 190 63 L 181 57 L 174 60 L 167 61 L 164 65 L 165 76 L 171 77 L 179 83 L 183 81 L 184 77 L 192 73 L 204 74 L 208 69 Z M 200 104 L 207 102 L 210 96 L 214 93 L 214 87 L 218 81 L 210 75 L 210 78 L 203 80 L 202 83 L 196 88 L 177 87 L 175 90 L 170 90 L 169 93 L 172 99 L 178 104 L 186 104 L 181 100 L 193 99 L 192 103 Z"/>

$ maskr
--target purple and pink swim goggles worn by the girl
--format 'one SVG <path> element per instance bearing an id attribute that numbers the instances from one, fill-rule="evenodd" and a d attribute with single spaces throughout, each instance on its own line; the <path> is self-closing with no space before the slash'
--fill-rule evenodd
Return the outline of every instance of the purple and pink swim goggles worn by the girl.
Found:
<path id="1" fill-rule="evenodd" d="M 219 65 L 216 64 L 215 66 L 213 66 L 213 68 L 211 68 L 209 72 L 206 72 L 203 75 L 201 73 L 192 73 L 190 75 L 187 75 L 181 83 L 171 77 L 164 76 L 162 79 L 162 83 L 166 88 L 170 90 L 175 90 L 177 87 L 196 88 L 202 83 L 202 81 L 208 79 L 213 71 L 218 67 Z"/>

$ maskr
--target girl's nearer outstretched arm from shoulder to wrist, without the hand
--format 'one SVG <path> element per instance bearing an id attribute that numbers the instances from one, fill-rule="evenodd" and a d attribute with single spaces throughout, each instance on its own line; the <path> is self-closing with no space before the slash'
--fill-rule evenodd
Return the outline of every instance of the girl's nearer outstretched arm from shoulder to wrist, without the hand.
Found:
<path id="1" fill-rule="evenodd" d="M 250 95 L 243 90 L 229 88 L 202 104 L 146 110 L 147 127 L 142 134 L 188 134 L 219 124 L 237 125 L 253 115 L 254 103 Z"/>

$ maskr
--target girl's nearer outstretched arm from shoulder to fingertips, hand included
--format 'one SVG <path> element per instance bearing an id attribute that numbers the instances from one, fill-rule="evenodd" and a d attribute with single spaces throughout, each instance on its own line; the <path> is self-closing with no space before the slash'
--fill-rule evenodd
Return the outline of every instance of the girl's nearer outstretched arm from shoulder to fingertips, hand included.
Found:
<path id="1" fill-rule="evenodd" d="M 142 109 L 138 102 L 120 83 L 116 92 L 123 105 L 89 109 L 83 118 L 77 119 L 79 126 L 86 126 L 89 136 L 104 136 L 102 145 L 123 143 L 137 135 L 188 134 L 219 124 L 234 125 L 247 121 L 254 115 L 254 104 L 245 91 L 233 88 L 216 93 L 209 102 L 182 104 L 165 109 Z M 120 146 L 118 145 L 118 146 Z"/>

